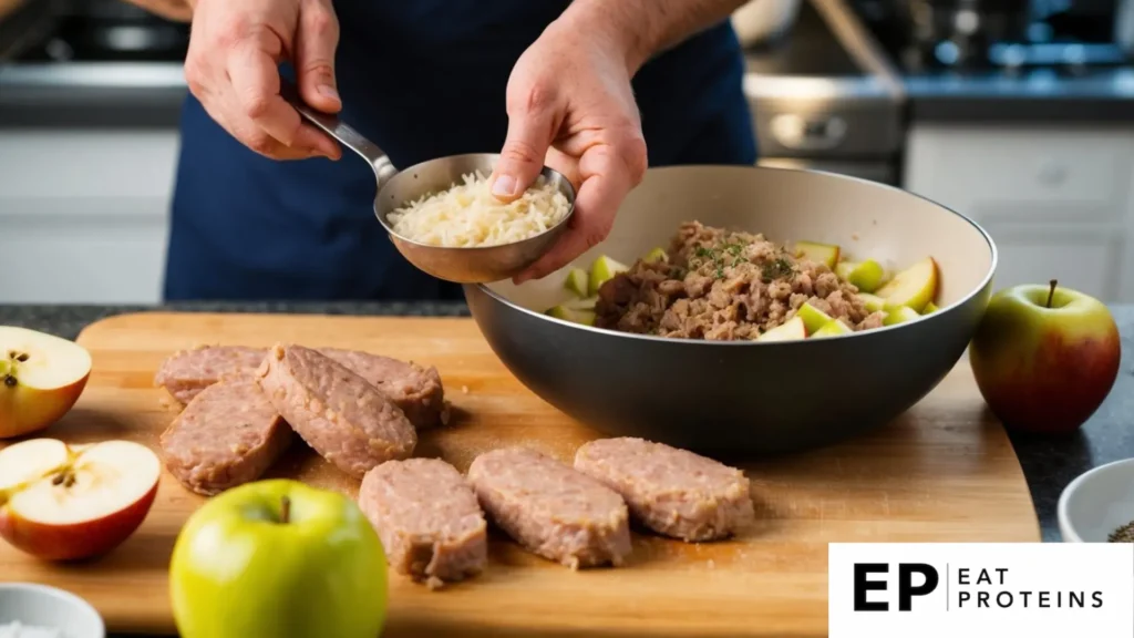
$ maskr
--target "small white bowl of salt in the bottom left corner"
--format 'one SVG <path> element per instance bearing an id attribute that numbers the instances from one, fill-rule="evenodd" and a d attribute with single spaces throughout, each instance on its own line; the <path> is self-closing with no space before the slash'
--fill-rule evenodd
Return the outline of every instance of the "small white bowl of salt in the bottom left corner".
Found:
<path id="1" fill-rule="evenodd" d="M 0 627 L 19 622 L 59 630 L 64 638 L 105 638 L 102 616 L 83 598 L 29 582 L 0 582 Z"/>

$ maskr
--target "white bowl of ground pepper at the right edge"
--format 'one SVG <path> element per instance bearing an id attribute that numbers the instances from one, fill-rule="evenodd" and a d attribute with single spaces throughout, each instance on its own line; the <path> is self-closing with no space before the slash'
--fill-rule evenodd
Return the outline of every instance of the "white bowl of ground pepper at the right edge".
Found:
<path id="1" fill-rule="evenodd" d="M 1064 543 L 1107 543 L 1134 521 L 1134 459 L 1084 472 L 1064 489 L 1058 506 Z"/>

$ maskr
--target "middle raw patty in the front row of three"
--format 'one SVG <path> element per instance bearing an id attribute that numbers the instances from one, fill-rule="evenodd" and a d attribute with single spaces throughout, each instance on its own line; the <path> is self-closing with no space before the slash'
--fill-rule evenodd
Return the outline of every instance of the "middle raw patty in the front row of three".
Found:
<path id="1" fill-rule="evenodd" d="M 631 553 L 623 497 L 569 465 L 524 447 L 485 452 L 468 479 L 493 522 L 530 552 L 572 569 Z"/>

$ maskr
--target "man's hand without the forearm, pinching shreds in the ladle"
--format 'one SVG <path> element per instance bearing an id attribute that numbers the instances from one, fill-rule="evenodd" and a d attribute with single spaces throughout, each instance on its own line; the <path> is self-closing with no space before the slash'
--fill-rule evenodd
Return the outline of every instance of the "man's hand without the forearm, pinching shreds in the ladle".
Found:
<path id="1" fill-rule="evenodd" d="M 577 193 L 567 232 L 516 283 L 555 272 L 607 238 L 646 170 L 626 43 L 569 14 L 521 56 L 508 81 L 508 136 L 493 194 L 514 201 L 544 165 L 566 175 Z"/>

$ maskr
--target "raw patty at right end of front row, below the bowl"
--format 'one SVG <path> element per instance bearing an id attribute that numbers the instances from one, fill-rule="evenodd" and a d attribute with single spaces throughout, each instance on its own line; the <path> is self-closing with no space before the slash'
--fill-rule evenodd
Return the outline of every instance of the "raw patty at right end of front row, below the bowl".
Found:
<path id="1" fill-rule="evenodd" d="M 593 440 L 575 469 L 623 495 L 645 527 L 684 540 L 725 538 L 754 517 L 741 470 L 641 438 Z"/>

